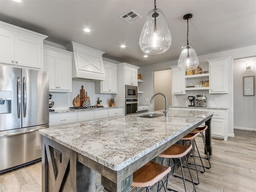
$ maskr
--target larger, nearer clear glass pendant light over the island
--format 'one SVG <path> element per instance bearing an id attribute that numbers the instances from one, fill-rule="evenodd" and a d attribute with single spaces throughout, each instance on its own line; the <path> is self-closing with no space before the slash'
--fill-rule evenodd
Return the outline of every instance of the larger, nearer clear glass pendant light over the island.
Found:
<path id="1" fill-rule="evenodd" d="M 172 43 L 172 36 L 161 9 L 155 8 L 148 12 L 142 32 L 140 34 L 140 48 L 146 54 L 160 54 L 166 52 Z"/>

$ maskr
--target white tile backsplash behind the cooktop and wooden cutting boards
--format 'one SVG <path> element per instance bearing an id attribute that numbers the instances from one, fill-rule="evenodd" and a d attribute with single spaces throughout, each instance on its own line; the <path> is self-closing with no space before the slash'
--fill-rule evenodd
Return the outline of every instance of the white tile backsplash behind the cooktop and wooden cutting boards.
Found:
<path id="1" fill-rule="evenodd" d="M 91 105 L 96 105 L 97 97 L 102 101 L 103 106 L 108 106 L 112 94 L 96 94 L 95 81 L 72 79 L 72 92 L 49 92 L 52 94 L 54 106 L 51 109 L 66 109 L 73 107 L 73 99 L 80 94 L 80 89 L 84 86 L 85 92 L 90 97 Z"/>

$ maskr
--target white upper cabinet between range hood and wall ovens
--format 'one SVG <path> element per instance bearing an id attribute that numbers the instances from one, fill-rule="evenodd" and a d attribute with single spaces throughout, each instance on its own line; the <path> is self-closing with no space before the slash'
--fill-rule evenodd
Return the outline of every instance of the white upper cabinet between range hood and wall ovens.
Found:
<path id="1" fill-rule="evenodd" d="M 104 62 L 106 80 L 97 81 L 95 84 L 96 93 L 117 93 L 117 66 L 114 63 Z"/>

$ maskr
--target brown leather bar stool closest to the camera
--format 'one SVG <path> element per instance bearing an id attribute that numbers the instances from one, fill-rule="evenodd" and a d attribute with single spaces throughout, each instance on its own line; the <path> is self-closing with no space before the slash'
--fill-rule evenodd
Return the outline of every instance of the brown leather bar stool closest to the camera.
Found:
<path id="1" fill-rule="evenodd" d="M 150 187 L 160 180 L 164 186 L 164 176 L 166 176 L 171 171 L 170 167 L 163 166 L 154 161 L 150 161 L 136 172 L 133 173 L 133 182 L 131 186 L 133 187 L 145 187 L 146 191 L 150 192 Z M 166 191 L 166 187 L 164 186 Z"/>

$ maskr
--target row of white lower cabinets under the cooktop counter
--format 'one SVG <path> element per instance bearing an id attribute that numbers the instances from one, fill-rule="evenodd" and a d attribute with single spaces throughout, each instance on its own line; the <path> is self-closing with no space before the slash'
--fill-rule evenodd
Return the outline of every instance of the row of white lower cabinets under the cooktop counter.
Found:
<path id="1" fill-rule="evenodd" d="M 123 116 L 124 108 L 76 111 L 66 113 L 52 113 L 49 114 L 49 125 L 62 125 L 76 122 L 89 121 L 94 119 L 120 117 Z"/>

